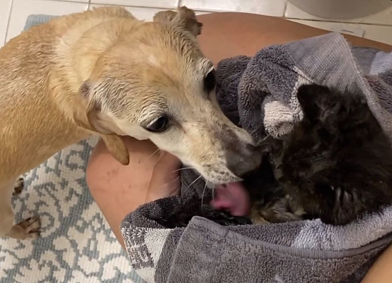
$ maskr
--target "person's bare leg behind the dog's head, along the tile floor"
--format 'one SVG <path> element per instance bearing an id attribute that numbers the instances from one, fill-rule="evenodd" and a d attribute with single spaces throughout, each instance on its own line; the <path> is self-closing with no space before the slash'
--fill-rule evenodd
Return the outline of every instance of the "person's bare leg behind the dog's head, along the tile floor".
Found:
<path id="1" fill-rule="evenodd" d="M 283 44 L 329 31 L 277 17 L 246 13 L 211 13 L 197 16 L 203 23 L 198 37 L 204 54 L 217 64 L 221 59 L 253 56 L 263 47 Z M 241 24 L 239 24 L 241 23 Z M 361 37 L 344 35 L 354 46 L 392 51 L 392 46 Z"/>

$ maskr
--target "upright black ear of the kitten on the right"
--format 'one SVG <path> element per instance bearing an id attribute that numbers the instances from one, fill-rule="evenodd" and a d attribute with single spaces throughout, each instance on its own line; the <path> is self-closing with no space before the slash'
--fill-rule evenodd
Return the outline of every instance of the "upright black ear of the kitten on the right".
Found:
<path id="1" fill-rule="evenodd" d="M 318 84 L 305 84 L 298 88 L 297 99 L 301 105 L 304 119 L 316 122 L 323 113 L 320 97 L 326 95 L 329 88 Z"/>

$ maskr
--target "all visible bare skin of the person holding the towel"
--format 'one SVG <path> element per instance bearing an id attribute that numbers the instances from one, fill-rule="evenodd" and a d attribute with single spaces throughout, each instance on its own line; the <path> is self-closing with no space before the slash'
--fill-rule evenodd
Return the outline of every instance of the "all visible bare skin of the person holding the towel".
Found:
<path id="1" fill-rule="evenodd" d="M 243 13 L 200 15 L 198 21 L 204 24 L 199 36 L 201 49 L 214 64 L 240 54 L 252 56 L 272 44 L 328 32 L 281 18 Z M 241 25 L 238 25 L 240 22 Z M 349 35 L 345 37 L 354 46 L 392 51 L 392 46 L 386 44 Z M 116 161 L 100 141 L 87 168 L 90 191 L 122 245 L 120 224 L 125 215 L 146 202 L 175 195 L 180 188 L 176 171 L 180 162 L 174 156 L 157 152 L 157 148 L 149 141 L 124 138 L 124 142 L 130 155 L 129 165 L 123 166 Z M 390 283 L 390 262 L 392 246 L 373 264 L 362 283 Z"/>

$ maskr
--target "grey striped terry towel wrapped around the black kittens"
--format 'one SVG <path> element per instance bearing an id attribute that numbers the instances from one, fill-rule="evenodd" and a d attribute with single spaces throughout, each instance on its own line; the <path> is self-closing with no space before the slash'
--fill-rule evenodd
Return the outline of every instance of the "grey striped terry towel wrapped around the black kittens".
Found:
<path id="1" fill-rule="evenodd" d="M 218 99 L 233 121 L 261 138 L 283 135 L 301 119 L 296 99 L 301 84 L 360 91 L 392 137 L 391 58 L 374 49 L 351 49 L 335 33 L 275 45 L 253 58 L 221 61 Z M 182 191 L 197 177 L 182 171 Z M 194 217 L 186 228 L 166 229 L 153 220 L 200 198 L 203 189 L 197 180 L 182 198 L 146 204 L 124 219 L 128 255 L 147 282 L 358 283 L 392 242 L 392 207 L 340 227 L 320 220 L 221 227 Z"/>

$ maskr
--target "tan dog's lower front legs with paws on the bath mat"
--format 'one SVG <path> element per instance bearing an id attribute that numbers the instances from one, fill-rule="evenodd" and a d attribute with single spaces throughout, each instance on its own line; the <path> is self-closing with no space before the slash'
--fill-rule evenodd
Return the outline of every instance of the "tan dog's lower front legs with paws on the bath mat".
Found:
<path id="1" fill-rule="evenodd" d="M 0 237 L 10 237 L 24 240 L 35 238 L 39 235 L 40 221 L 37 216 L 27 218 L 26 220 L 13 225 L 14 211 L 11 207 L 11 195 L 15 190 L 21 187 L 21 179 L 5 182 L 0 184 Z"/>

